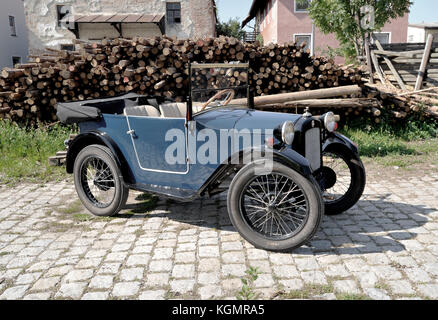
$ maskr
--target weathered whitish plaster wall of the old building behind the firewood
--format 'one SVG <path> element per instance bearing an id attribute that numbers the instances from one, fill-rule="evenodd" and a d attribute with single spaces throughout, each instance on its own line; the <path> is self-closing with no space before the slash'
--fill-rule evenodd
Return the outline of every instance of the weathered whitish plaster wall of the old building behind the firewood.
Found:
<path id="1" fill-rule="evenodd" d="M 26 21 L 29 27 L 29 46 L 36 52 L 45 46 L 59 47 L 71 43 L 74 34 L 57 26 L 56 6 L 71 5 L 78 15 L 89 14 L 166 14 L 166 1 L 163 0 L 24 0 Z M 181 2 L 182 23 L 166 24 L 166 34 L 177 38 L 213 37 L 216 33 L 216 20 L 213 0 L 172 0 Z M 80 25 L 80 37 L 113 38 L 116 30 L 109 24 Z M 136 24 L 124 26 L 125 37 L 161 35 L 155 24 Z M 96 34 L 93 35 L 93 29 Z M 82 31 L 82 33 L 81 33 Z M 138 33 L 137 33 L 138 32 Z"/>

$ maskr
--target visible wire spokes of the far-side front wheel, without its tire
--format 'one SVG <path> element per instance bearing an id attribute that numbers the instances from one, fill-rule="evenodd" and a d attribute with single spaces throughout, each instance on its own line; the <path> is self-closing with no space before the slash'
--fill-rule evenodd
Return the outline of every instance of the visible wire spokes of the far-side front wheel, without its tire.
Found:
<path id="1" fill-rule="evenodd" d="M 336 153 L 324 152 L 323 164 L 330 168 L 336 174 L 335 184 L 323 190 L 323 199 L 325 203 L 340 201 L 352 188 L 352 172 L 347 161 Z"/>

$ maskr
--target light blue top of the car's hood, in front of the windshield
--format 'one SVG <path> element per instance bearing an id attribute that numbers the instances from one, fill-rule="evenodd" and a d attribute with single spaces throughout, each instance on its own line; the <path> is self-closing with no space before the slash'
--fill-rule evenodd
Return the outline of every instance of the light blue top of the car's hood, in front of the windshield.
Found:
<path id="1" fill-rule="evenodd" d="M 246 108 L 218 108 L 195 116 L 195 120 L 211 129 L 275 129 L 285 121 L 295 123 L 301 115 L 266 112 Z"/>

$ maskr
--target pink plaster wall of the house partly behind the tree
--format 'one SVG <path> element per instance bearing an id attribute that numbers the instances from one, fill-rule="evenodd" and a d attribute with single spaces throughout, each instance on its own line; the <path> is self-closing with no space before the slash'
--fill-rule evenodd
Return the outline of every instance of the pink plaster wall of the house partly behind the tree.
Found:
<path id="1" fill-rule="evenodd" d="M 306 12 L 295 12 L 295 0 L 275 0 L 274 15 L 277 15 L 275 30 L 270 26 L 262 31 L 265 43 L 286 43 L 294 41 L 296 34 L 312 34 L 312 19 Z M 382 28 L 382 32 L 391 33 L 391 42 L 407 42 L 409 15 L 390 21 Z M 315 28 L 313 39 L 313 53 L 321 54 L 328 47 L 337 48 L 339 42 L 334 34 L 323 34 Z M 336 62 L 342 63 L 342 58 L 337 58 Z"/>

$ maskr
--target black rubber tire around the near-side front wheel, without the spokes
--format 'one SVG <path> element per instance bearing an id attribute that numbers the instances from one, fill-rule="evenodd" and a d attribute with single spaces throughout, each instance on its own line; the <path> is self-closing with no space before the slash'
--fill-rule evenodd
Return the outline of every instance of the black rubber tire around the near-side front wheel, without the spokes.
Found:
<path id="1" fill-rule="evenodd" d="M 280 189 L 283 181 L 283 188 L 281 191 L 276 189 L 274 196 L 267 196 L 267 199 L 271 199 L 269 200 L 269 209 L 266 209 L 265 211 L 261 211 L 261 213 L 259 213 L 261 215 L 264 215 L 265 217 L 268 217 L 269 214 L 271 217 L 273 217 L 274 214 L 277 217 L 276 219 L 271 219 L 270 234 L 268 235 L 267 232 L 262 232 L 264 227 L 262 227 L 262 230 L 256 230 L 256 224 L 251 221 L 251 218 L 249 218 L 249 216 L 253 215 L 254 212 L 247 213 L 247 211 L 249 212 L 249 210 L 254 209 L 249 208 L 250 206 L 248 202 L 245 202 L 247 201 L 245 198 L 246 196 L 254 195 L 254 197 L 256 197 L 255 193 L 253 193 L 254 189 L 252 189 L 252 184 L 254 182 L 258 183 L 258 179 L 263 179 L 264 177 L 263 174 L 260 174 L 259 171 L 256 171 L 256 169 L 258 168 L 257 166 L 259 166 L 260 168 L 260 165 L 260 161 L 256 161 L 254 163 L 246 165 L 236 174 L 233 181 L 231 182 L 230 188 L 228 190 L 227 199 L 228 214 L 230 216 L 231 222 L 233 223 L 237 231 L 241 234 L 241 236 L 257 248 L 279 252 L 289 251 L 298 248 L 313 238 L 315 233 L 318 231 L 319 225 L 324 215 L 324 204 L 319 188 L 316 185 L 316 182 L 307 179 L 290 167 L 287 167 L 279 162 L 274 162 L 272 172 L 266 175 L 266 185 L 268 188 L 271 189 L 273 189 L 272 185 L 274 185 L 274 188 L 275 186 L 278 186 L 278 189 Z M 272 182 L 272 179 L 274 178 L 275 183 L 270 184 L 269 181 Z M 302 195 L 300 194 L 299 196 L 296 196 L 295 193 L 291 193 L 291 187 L 289 187 L 289 190 L 287 192 L 283 192 L 283 190 L 285 190 L 284 186 L 287 183 L 289 183 L 289 186 L 295 184 L 297 186 L 297 191 L 295 192 L 298 192 L 299 190 Z M 294 189 L 295 187 L 293 187 L 292 191 Z M 251 193 L 248 192 L 249 190 L 251 190 Z M 259 194 L 262 195 L 261 197 L 266 198 L 265 192 Z M 285 194 L 286 196 L 284 197 Z M 281 202 L 289 196 L 287 194 L 292 195 L 291 197 L 293 199 L 293 202 L 290 203 L 290 201 L 292 200 L 287 200 L 286 202 L 290 203 L 295 211 L 292 211 L 290 209 L 291 207 L 289 207 L 289 209 L 280 208 Z M 302 203 L 301 205 L 304 205 L 302 200 L 297 201 L 299 197 L 303 197 L 301 199 L 306 200 L 306 218 L 303 218 L 301 225 L 299 225 L 292 233 L 283 236 L 280 236 L 278 234 L 274 236 L 272 234 L 272 226 L 275 220 L 277 220 L 277 222 L 280 222 L 280 220 L 283 222 L 287 221 L 287 215 L 295 216 L 296 214 L 298 214 L 297 205 L 300 202 Z M 272 200 L 272 198 L 275 198 L 275 200 Z M 282 199 L 280 201 L 277 201 L 278 198 Z M 274 209 L 272 208 L 272 206 L 274 206 Z M 300 207 L 300 209 L 303 209 L 303 207 Z M 281 212 L 278 210 L 280 210 Z M 260 209 L 257 211 L 260 211 Z M 283 218 L 278 218 L 279 214 L 281 214 L 281 217 L 283 217 L 284 220 Z M 302 217 L 302 213 L 300 213 L 300 215 Z M 295 218 L 292 217 L 292 219 Z M 290 221 L 292 221 L 292 219 L 290 219 Z M 265 221 L 267 220 L 268 219 L 265 219 Z M 268 229 L 268 227 L 266 229 Z M 279 229 L 277 229 L 277 231 L 278 230 Z"/>

